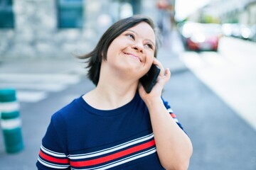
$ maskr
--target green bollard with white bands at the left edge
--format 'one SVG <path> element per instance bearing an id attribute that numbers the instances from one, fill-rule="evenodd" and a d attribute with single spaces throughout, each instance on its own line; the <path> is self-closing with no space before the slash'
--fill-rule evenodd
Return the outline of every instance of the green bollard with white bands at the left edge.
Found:
<path id="1" fill-rule="evenodd" d="M 20 152 L 24 146 L 19 103 L 16 101 L 15 89 L 0 89 L 0 115 L 6 152 Z"/>

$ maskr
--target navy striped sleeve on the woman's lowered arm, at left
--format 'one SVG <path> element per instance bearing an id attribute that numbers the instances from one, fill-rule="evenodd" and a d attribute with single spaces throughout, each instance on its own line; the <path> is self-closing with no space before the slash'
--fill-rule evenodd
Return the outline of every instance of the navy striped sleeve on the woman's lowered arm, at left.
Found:
<path id="1" fill-rule="evenodd" d="M 38 162 L 36 162 L 38 169 L 70 169 L 68 153 L 64 149 L 64 132 L 63 119 L 60 115 L 53 115 L 42 140 Z"/>

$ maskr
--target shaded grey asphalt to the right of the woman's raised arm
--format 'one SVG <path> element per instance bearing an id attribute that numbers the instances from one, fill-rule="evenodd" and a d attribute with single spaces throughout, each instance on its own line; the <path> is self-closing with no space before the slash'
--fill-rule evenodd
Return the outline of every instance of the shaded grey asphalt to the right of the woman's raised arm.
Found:
<path id="1" fill-rule="evenodd" d="M 256 169 L 256 134 L 192 72 L 174 74 L 164 93 L 193 142 L 191 170 Z"/>

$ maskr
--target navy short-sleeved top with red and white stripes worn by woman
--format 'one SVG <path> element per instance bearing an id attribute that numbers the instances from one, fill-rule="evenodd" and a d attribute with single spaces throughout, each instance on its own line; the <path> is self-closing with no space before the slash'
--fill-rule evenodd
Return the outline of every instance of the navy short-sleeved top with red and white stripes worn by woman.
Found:
<path id="1" fill-rule="evenodd" d="M 178 123 L 171 107 L 166 101 L 164 104 Z M 139 94 L 111 111 L 92 108 L 82 97 L 60 109 L 50 120 L 36 166 L 38 169 L 164 169 L 157 156 L 149 111 Z"/>

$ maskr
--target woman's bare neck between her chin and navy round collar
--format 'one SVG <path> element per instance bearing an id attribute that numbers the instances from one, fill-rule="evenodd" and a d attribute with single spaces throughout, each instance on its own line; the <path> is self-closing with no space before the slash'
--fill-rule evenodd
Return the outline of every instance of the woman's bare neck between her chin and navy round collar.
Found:
<path id="1" fill-rule="evenodd" d="M 132 101 L 137 91 L 138 81 L 112 76 L 101 76 L 97 87 L 85 94 L 83 98 L 90 106 L 101 110 L 119 108 Z M 123 77 L 123 75 L 122 75 Z"/>

